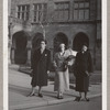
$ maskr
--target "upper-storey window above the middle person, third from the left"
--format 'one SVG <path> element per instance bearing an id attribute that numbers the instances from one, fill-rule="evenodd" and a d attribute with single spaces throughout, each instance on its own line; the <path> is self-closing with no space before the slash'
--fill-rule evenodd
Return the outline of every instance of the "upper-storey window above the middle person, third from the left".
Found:
<path id="1" fill-rule="evenodd" d="M 55 8 L 55 21 L 67 21 L 69 19 L 69 2 L 56 2 Z"/>

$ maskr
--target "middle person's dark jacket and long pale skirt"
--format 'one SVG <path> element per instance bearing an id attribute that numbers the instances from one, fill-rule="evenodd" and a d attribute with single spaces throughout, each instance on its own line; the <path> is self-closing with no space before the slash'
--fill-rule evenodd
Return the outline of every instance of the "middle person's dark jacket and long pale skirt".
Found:
<path id="1" fill-rule="evenodd" d="M 69 74 L 68 74 L 68 68 L 63 72 L 63 63 L 65 59 L 68 57 L 68 54 L 65 52 L 63 55 L 59 53 L 55 54 L 54 57 L 54 66 L 55 66 L 55 85 L 54 85 L 54 90 L 55 91 L 65 91 L 69 90 Z"/>

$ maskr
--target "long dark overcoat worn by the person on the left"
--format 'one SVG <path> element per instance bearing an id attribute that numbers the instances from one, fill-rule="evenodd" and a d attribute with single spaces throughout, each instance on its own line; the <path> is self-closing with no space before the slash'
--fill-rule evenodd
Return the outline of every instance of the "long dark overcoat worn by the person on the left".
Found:
<path id="1" fill-rule="evenodd" d="M 31 85 L 47 86 L 47 70 L 51 66 L 51 51 L 45 48 L 41 54 L 41 50 L 35 50 L 32 56 L 31 68 L 33 69 Z"/>

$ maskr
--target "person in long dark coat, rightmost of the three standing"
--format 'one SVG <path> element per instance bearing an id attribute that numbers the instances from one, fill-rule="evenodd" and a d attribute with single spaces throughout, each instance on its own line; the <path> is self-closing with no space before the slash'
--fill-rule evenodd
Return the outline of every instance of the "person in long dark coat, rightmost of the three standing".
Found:
<path id="1" fill-rule="evenodd" d="M 89 101 L 87 98 L 88 87 L 89 87 L 89 76 L 92 73 L 92 59 L 90 52 L 86 44 L 82 45 L 81 52 L 78 52 L 75 59 L 75 76 L 76 76 L 76 91 L 79 91 L 79 97 L 76 98 L 77 101 L 81 100 L 81 92 L 85 92 L 85 100 Z"/>

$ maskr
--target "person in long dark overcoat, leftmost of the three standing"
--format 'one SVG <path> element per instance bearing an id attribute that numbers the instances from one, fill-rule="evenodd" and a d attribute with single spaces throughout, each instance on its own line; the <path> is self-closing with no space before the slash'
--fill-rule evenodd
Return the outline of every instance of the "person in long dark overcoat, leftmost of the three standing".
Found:
<path id="1" fill-rule="evenodd" d="M 32 92 L 35 96 L 35 87 L 38 86 L 38 97 L 43 97 L 42 87 L 47 86 L 47 74 L 51 66 L 51 51 L 46 48 L 46 41 L 41 40 L 40 48 L 32 56 Z"/>

